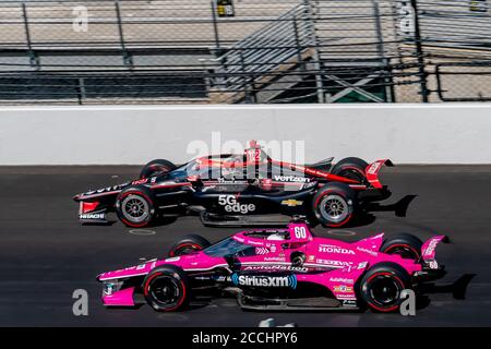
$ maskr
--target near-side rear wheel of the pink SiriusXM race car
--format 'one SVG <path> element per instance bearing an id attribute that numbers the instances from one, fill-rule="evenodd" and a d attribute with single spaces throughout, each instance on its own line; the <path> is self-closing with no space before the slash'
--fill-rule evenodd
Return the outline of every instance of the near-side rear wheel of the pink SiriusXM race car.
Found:
<path id="1" fill-rule="evenodd" d="M 409 274 L 398 264 L 382 262 L 372 266 L 360 281 L 362 301 L 374 312 L 396 312 L 404 301 L 403 290 L 411 288 Z"/>

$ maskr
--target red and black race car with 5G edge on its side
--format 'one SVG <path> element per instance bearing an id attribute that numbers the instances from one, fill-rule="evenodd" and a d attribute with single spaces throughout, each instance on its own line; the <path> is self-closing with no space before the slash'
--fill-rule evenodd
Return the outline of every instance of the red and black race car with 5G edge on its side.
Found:
<path id="1" fill-rule="evenodd" d="M 299 166 L 270 158 L 255 143 L 243 154 L 199 157 L 176 166 L 157 159 L 140 178 L 74 196 L 82 222 L 108 222 L 116 212 L 129 227 L 199 214 L 207 226 L 278 225 L 264 215 L 303 215 L 327 227 L 347 225 L 368 202 L 390 196 L 379 180 L 383 165 L 356 157 Z"/>

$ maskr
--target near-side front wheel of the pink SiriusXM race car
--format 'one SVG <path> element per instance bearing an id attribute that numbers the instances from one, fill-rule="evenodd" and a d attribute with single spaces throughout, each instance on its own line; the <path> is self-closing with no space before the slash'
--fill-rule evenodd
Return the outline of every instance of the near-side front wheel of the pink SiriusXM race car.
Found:
<path id="1" fill-rule="evenodd" d="M 151 270 L 143 280 L 143 296 L 157 312 L 183 310 L 189 304 L 188 276 L 175 265 L 161 265 Z"/>

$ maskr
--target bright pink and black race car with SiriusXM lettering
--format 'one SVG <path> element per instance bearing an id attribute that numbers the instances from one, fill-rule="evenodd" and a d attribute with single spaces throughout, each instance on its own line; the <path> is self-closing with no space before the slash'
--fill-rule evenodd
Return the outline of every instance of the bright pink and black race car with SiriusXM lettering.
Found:
<path id="1" fill-rule="evenodd" d="M 183 310 L 203 297 L 235 294 L 249 310 L 397 311 L 405 289 L 444 275 L 436 236 L 408 233 L 357 242 L 314 237 L 297 219 L 287 229 L 250 230 L 209 244 L 200 236 L 177 242 L 164 260 L 103 273 L 106 306 L 148 303 Z"/>

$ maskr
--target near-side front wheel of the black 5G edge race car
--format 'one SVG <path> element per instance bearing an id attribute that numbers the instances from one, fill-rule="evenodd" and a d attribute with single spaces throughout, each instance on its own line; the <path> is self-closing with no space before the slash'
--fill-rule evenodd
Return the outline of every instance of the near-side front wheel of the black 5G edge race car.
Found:
<path id="1" fill-rule="evenodd" d="M 144 228 L 155 219 L 154 202 L 152 190 L 144 185 L 131 185 L 122 190 L 116 197 L 116 214 L 125 226 Z"/>

